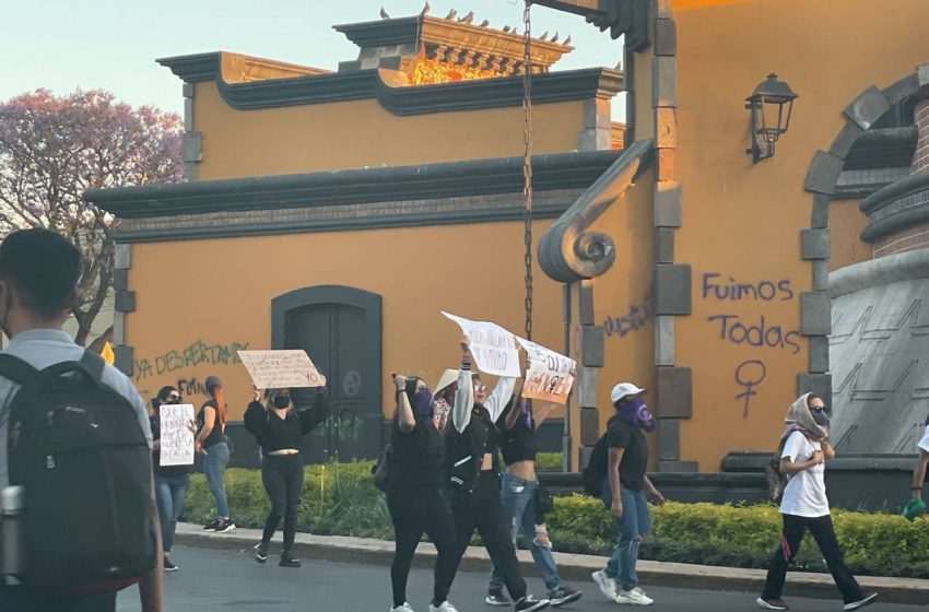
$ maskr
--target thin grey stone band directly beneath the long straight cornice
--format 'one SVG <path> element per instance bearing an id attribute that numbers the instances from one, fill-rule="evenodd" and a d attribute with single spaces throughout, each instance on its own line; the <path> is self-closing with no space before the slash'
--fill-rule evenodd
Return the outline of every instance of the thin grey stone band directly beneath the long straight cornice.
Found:
<path id="1" fill-rule="evenodd" d="M 514 196 L 517 197 L 517 196 Z M 568 204 L 534 207 L 532 216 L 537 220 L 557 219 L 564 214 Z M 251 223 L 242 225 L 203 225 L 198 227 L 166 227 L 157 229 L 124 231 L 118 229 L 116 238 L 121 244 L 162 243 L 199 238 L 237 238 L 242 236 L 280 236 L 286 234 L 314 234 L 319 232 L 352 232 L 360 229 L 384 229 L 388 227 L 427 227 L 431 225 L 457 225 L 462 223 L 493 223 L 498 221 L 521 221 L 522 210 L 465 209 L 428 214 L 409 214 L 390 216 L 351 217 L 340 220 Z"/>

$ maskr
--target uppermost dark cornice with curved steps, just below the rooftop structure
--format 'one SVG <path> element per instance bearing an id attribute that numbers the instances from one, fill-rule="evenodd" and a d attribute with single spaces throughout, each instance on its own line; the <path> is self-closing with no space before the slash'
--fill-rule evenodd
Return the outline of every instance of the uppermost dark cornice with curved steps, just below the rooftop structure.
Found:
<path id="1" fill-rule="evenodd" d="M 522 104 L 522 80 L 519 76 L 393 86 L 389 83 L 389 71 L 372 69 L 227 83 L 220 70 L 219 52 L 163 58 L 157 62 L 188 83 L 215 81 L 222 98 L 237 110 L 376 98 L 386 110 L 409 116 Z M 609 99 L 622 90 L 623 73 L 607 68 L 545 72 L 532 76 L 533 104 L 591 97 Z"/>

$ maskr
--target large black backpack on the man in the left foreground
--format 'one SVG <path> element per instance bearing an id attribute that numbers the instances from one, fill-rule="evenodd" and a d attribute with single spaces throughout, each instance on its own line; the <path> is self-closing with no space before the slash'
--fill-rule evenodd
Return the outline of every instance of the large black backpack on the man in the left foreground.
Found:
<path id="1" fill-rule="evenodd" d="M 156 563 L 152 459 L 131 402 L 103 384 L 105 364 L 37 370 L 0 355 L 21 385 L 10 404 L 10 484 L 24 489 L 23 585 L 66 592 L 115 591 Z"/>

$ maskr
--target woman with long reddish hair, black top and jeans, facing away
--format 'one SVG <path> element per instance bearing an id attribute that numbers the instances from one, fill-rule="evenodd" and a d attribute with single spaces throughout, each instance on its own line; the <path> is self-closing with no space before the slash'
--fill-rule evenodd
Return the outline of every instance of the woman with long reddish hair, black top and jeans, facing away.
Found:
<path id="1" fill-rule="evenodd" d="M 216 518 L 208 522 L 203 529 L 212 529 L 220 533 L 232 531 L 235 523 L 230 518 L 230 506 L 226 501 L 226 487 L 223 478 L 230 462 L 230 447 L 226 444 L 226 401 L 223 396 L 223 381 L 219 376 L 208 376 L 204 382 L 210 399 L 203 403 L 197 414 L 197 426 L 200 432 L 195 440 L 197 452 L 203 455 L 203 474 L 207 486 L 216 499 Z"/>

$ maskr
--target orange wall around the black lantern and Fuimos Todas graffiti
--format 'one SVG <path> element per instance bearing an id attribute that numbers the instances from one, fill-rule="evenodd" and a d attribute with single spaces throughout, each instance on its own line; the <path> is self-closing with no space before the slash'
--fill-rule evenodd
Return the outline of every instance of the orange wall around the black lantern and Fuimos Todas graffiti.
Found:
<path id="1" fill-rule="evenodd" d="M 729 450 L 772 449 L 796 377 L 807 370 L 800 293 L 811 289 L 811 267 L 800 258 L 812 196 L 803 179 L 818 149 L 827 150 L 843 126 L 842 110 L 871 84 L 913 72 L 926 59 L 924 0 L 759 0 L 675 14 L 679 70 L 679 156 L 683 227 L 677 260 L 693 267 L 693 315 L 678 318 L 677 361 L 693 368 L 694 416 L 681 426 L 681 458 L 716 471 Z M 790 130 L 776 156 L 753 165 L 744 98 L 771 72 L 800 94 Z M 836 239 L 836 236 L 833 236 Z M 704 298 L 704 273 L 719 281 L 789 283 L 767 301 Z M 780 327 L 797 349 L 752 348 L 720 338 L 720 321 Z M 736 319 L 732 319 L 734 322 Z M 737 334 L 740 338 L 741 334 Z M 776 333 L 772 332 L 772 338 Z M 766 375 L 749 388 L 739 366 L 757 360 Z M 742 366 L 743 382 L 757 364 Z"/>

